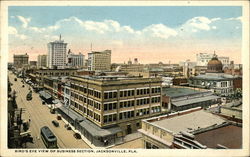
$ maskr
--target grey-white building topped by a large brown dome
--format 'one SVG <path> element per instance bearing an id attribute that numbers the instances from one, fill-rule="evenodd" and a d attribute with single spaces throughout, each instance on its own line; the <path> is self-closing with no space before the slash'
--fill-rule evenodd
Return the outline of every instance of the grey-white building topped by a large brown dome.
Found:
<path id="1" fill-rule="evenodd" d="M 217 55 L 214 54 L 213 58 L 207 64 L 206 74 L 191 77 L 189 85 L 194 88 L 210 89 L 217 95 L 229 96 L 233 94 L 233 80 L 238 76 L 223 73 L 223 65 L 218 60 Z"/>

